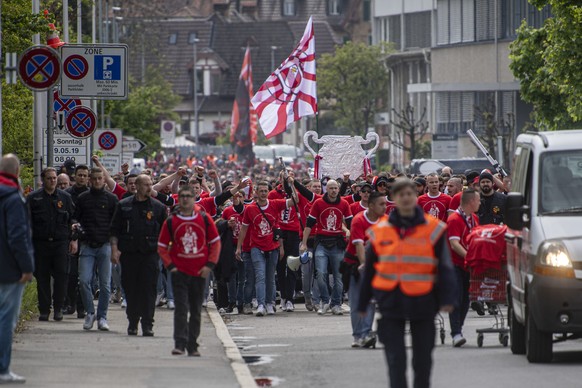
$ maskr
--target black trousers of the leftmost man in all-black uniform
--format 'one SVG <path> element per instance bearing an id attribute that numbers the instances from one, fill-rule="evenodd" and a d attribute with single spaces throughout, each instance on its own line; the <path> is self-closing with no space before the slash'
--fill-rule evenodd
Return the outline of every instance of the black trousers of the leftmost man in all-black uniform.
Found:
<path id="1" fill-rule="evenodd" d="M 38 311 L 61 311 L 65 303 L 69 270 L 68 241 L 33 241 L 34 277 L 38 291 Z M 54 279 L 51 291 L 51 277 Z"/>

